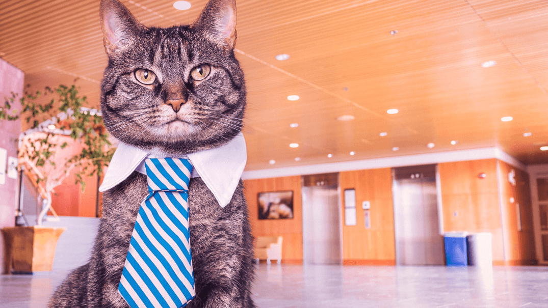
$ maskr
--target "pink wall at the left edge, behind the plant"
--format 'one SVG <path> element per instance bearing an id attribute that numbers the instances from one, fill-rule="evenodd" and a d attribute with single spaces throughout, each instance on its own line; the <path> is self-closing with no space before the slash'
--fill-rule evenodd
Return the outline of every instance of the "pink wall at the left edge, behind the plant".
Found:
<path id="1" fill-rule="evenodd" d="M 15 66 L 0 59 L 0 104 L 4 106 L 4 97 L 11 92 L 22 94 L 25 74 Z M 20 109 L 20 104 L 14 108 Z M 21 132 L 21 121 L 0 120 L 0 148 L 8 150 L 8 156 L 17 157 L 17 142 Z M 17 207 L 18 180 L 8 178 L 0 184 L 0 228 L 15 224 L 14 211 Z M 4 271 L 4 241 L 0 236 L 0 272 Z"/>

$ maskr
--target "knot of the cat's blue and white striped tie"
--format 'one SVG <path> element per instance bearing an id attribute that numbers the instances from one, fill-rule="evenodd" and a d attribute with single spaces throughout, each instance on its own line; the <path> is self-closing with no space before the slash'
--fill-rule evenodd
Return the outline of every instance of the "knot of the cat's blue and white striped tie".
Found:
<path id="1" fill-rule="evenodd" d="M 188 159 L 147 158 L 145 168 L 150 192 L 189 189 L 192 165 Z"/>

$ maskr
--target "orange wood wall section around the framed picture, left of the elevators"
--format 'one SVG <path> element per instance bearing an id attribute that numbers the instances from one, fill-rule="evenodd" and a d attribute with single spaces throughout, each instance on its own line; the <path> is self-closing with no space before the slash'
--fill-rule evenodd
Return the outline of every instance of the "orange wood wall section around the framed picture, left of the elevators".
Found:
<path id="1" fill-rule="evenodd" d="M 250 179 L 244 181 L 253 236 L 283 236 L 282 262 L 302 264 L 301 177 Z M 293 190 L 293 219 L 259 220 L 257 194 Z"/>

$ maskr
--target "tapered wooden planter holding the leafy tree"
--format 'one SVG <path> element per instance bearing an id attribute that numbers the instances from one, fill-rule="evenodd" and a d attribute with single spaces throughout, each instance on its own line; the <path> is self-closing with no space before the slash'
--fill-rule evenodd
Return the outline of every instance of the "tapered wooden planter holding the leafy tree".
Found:
<path id="1" fill-rule="evenodd" d="M 3 228 L 7 272 L 32 274 L 50 271 L 53 266 L 55 247 L 65 228 L 45 226 L 16 226 Z"/>

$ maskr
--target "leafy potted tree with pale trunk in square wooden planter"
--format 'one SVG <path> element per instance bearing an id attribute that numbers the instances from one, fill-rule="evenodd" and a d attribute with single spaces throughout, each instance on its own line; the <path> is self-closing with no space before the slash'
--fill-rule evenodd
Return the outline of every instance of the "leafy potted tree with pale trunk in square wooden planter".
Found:
<path id="1" fill-rule="evenodd" d="M 16 100 L 20 101 L 21 110 L 12 108 Z M 2 230 L 7 257 L 14 272 L 51 270 L 57 239 L 64 228 L 48 228 L 42 222 L 50 211 L 56 217 L 52 207 L 55 187 L 75 171 L 76 183 L 85 189 L 84 176 L 100 177 L 115 149 L 109 141 L 101 113 L 89 108 L 87 97 L 79 95 L 75 85 L 27 91 L 20 98 L 12 94 L 0 107 L 0 120 L 19 118 L 30 128 L 19 136 L 18 168 L 20 175 L 25 173 L 35 185 L 42 202 L 35 226 Z M 66 136 L 73 142 L 67 142 Z M 77 148 L 71 148 L 74 145 Z M 56 158 L 66 150 L 73 153 L 59 164 Z"/>

